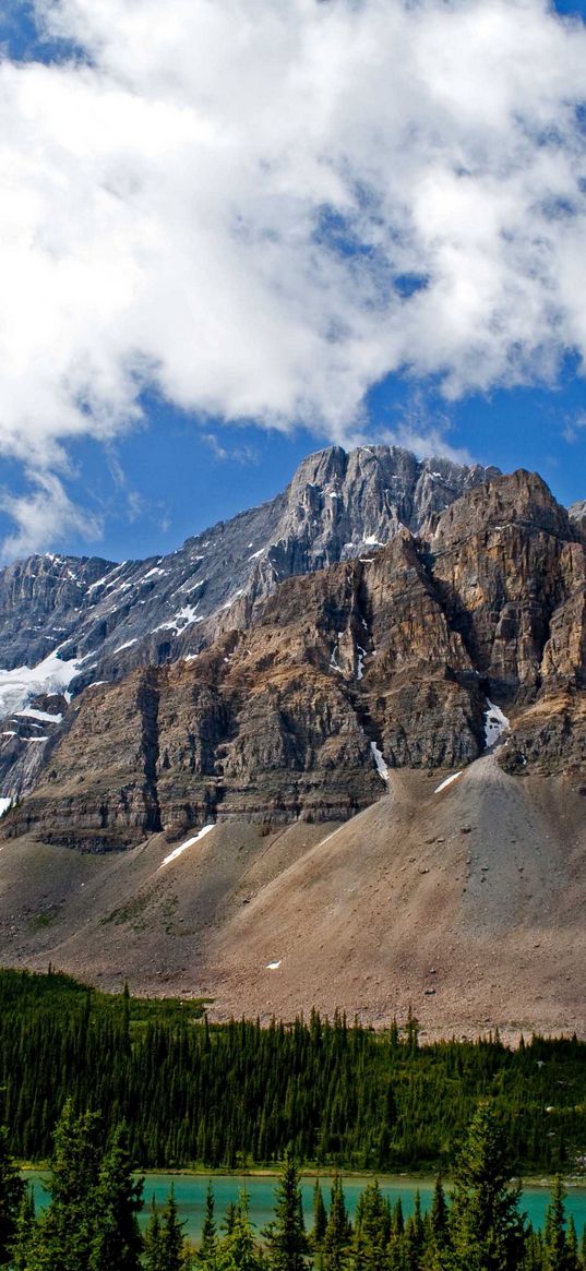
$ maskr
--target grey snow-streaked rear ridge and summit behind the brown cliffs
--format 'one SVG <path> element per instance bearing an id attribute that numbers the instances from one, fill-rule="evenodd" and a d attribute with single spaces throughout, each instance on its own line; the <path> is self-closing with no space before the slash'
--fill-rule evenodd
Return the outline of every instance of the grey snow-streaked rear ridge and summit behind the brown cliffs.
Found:
<path id="1" fill-rule="evenodd" d="M 285 578 L 364 555 L 400 525 L 418 533 L 430 513 L 496 472 L 419 461 L 390 446 L 350 454 L 329 446 L 305 459 L 271 502 L 219 521 L 170 555 L 122 564 L 31 557 L 0 571 L 0 666 L 36 667 L 58 647 L 75 691 L 197 653 L 221 630 L 249 623 Z"/>

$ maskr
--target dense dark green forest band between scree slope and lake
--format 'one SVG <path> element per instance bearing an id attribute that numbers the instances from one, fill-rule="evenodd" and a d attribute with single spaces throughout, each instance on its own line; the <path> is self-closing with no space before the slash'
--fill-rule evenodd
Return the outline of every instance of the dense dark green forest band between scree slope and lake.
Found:
<path id="1" fill-rule="evenodd" d="M 586 1045 L 498 1037 L 421 1045 L 330 1022 L 210 1026 L 202 1004 L 108 995 L 56 974 L 0 972 L 0 1085 L 10 1146 L 44 1160 L 69 1097 L 128 1126 L 144 1168 L 304 1163 L 445 1169 L 479 1099 L 517 1172 L 567 1171 L 586 1146 Z"/>

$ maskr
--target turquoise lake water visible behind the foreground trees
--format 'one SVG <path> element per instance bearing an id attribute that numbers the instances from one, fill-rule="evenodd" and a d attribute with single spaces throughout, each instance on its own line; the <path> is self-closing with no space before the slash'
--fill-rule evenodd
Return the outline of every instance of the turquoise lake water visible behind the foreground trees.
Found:
<path id="1" fill-rule="evenodd" d="M 27 1172 L 27 1178 L 34 1183 L 36 1199 L 39 1205 L 43 1205 L 46 1199 L 41 1186 L 42 1177 L 46 1176 L 38 1173 L 37 1171 Z M 351 1216 L 355 1213 L 360 1192 L 370 1181 L 370 1178 L 356 1176 L 346 1177 L 343 1179 L 346 1204 Z M 153 1196 L 156 1197 L 159 1204 L 164 1205 L 169 1195 L 169 1190 L 173 1186 L 181 1218 L 186 1221 L 186 1234 L 197 1240 L 201 1232 L 203 1209 L 206 1204 L 207 1182 L 208 1179 L 202 1174 L 146 1174 L 144 1193 L 145 1214 L 147 1215 Z M 221 1223 L 226 1206 L 230 1201 L 238 1200 L 239 1191 L 243 1186 L 247 1187 L 250 1197 L 250 1218 L 253 1223 L 256 1223 L 257 1229 L 261 1229 L 271 1221 L 273 1216 L 272 1207 L 275 1186 L 277 1182 L 275 1177 L 271 1176 L 259 1178 L 247 1174 L 245 1177 L 243 1176 L 239 1178 L 233 1174 L 229 1177 L 216 1174 L 211 1182 L 214 1185 L 216 1197 L 217 1223 Z M 313 1218 L 314 1182 L 315 1178 L 305 1177 L 301 1185 L 308 1227 L 311 1225 Z M 325 1205 L 328 1205 L 332 1178 L 329 1176 L 320 1176 L 320 1183 Z M 417 1188 L 419 1190 L 423 1209 L 427 1209 L 431 1204 L 433 1192 L 433 1179 L 431 1178 L 414 1179 L 399 1176 L 393 1178 L 379 1178 L 379 1183 L 381 1191 L 385 1196 L 390 1197 L 392 1202 L 398 1200 L 399 1196 L 402 1197 L 405 1215 L 411 1214 L 413 1210 Z M 543 1227 L 548 1201 L 549 1191 L 547 1187 L 524 1187 L 521 1209 L 525 1210 L 534 1227 Z M 566 1207 L 569 1214 L 573 1214 L 580 1235 L 582 1227 L 586 1224 L 586 1188 L 569 1187 Z"/>

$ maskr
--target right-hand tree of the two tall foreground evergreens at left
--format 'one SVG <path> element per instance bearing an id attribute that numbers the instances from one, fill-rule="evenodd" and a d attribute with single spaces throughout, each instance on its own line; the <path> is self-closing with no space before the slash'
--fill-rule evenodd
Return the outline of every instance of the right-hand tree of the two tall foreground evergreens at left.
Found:
<path id="1" fill-rule="evenodd" d="M 142 1179 L 132 1178 L 128 1132 L 118 1126 L 99 1167 L 94 1192 L 97 1230 L 88 1271 L 140 1271 L 142 1239 L 137 1215 L 142 1209 Z"/>

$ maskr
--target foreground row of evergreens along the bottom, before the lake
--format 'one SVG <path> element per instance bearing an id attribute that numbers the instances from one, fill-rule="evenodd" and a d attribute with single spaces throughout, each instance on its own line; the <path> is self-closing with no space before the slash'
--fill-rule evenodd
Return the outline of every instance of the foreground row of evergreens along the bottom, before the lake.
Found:
<path id="1" fill-rule="evenodd" d="M 521 1209 L 510 1182 L 502 1130 L 489 1104 L 477 1110 L 454 1172 L 447 1202 L 437 1181 L 430 1213 L 418 1200 L 405 1220 L 376 1182 L 358 1199 L 353 1223 L 337 1176 L 329 1209 L 315 1186 L 308 1232 L 299 1173 L 289 1154 L 276 1188 L 273 1220 L 257 1232 L 240 1193 L 219 1227 L 207 1193 L 201 1240 L 183 1235 L 173 1192 L 139 1227 L 142 1183 L 132 1174 L 127 1136 L 118 1126 L 104 1141 L 99 1116 L 65 1106 L 55 1135 L 50 1204 L 37 1216 L 31 1192 L 0 1132 L 0 1267 L 10 1271 L 586 1271 L 564 1192 L 555 1181 L 543 1232 Z"/>

